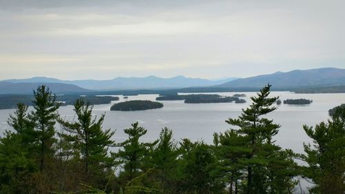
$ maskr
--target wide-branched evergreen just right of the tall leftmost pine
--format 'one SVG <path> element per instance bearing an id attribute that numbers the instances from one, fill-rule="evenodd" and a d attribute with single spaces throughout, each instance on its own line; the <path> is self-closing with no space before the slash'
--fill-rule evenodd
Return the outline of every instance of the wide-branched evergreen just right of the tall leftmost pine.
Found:
<path id="1" fill-rule="evenodd" d="M 59 119 L 63 130 L 66 131 L 59 135 L 72 144 L 72 152 L 77 159 L 81 155 L 80 159 L 89 181 L 104 180 L 106 171 L 110 170 L 115 162 L 108 153 L 108 147 L 115 146 L 111 139 L 115 132 L 102 129 L 105 115 L 101 115 L 98 120 L 97 117 L 92 117 L 93 106 L 90 106 L 89 102 L 77 99 L 74 106 L 77 121 Z"/>

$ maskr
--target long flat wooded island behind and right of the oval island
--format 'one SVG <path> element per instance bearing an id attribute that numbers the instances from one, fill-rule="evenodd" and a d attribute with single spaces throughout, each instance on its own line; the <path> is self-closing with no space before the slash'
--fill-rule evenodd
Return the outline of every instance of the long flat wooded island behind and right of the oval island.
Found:
<path id="1" fill-rule="evenodd" d="M 158 101 L 164 100 L 184 100 L 184 103 L 198 104 L 198 103 L 246 103 L 245 99 L 239 99 L 239 97 L 223 97 L 221 95 L 164 95 L 156 98 Z"/>

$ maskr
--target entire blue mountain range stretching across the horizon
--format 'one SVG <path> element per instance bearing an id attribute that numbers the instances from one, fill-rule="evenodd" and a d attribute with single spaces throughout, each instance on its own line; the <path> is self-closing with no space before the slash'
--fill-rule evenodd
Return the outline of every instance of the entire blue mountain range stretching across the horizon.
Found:
<path id="1" fill-rule="evenodd" d="M 345 69 L 317 68 L 310 70 L 292 70 L 275 72 L 268 75 L 258 75 L 247 78 L 228 78 L 218 81 L 208 79 L 177 76 L 171 78 L 149 77 L 117 77 L 110 80 L 61 80 L 48 77 L 32 77 L 29 79 L 7 79 L 0 81 L 0 94 L 27 94 L 40 84 L 46 84 L 57 94 L 66 93 L 105 93 L 112 94 L 114 90 L 127 90 L 130 93 L 160 93 L 160 91 L 176 92 L 226 92 L 255 91 L 266 84 L 273 85 L 273 90 L 299 90 L 315 88 L 343 92 L 345 86 Z M 341 86 L 341 87 L 339 87 Z M 328 88 L 334 88 L 330 90 Z M 316 89 L 321 88 L 321 89 Z M 137 92 L 135 92 L 137 90 Z M 98 92 L 97 92 L 98 91 Z M 106 92 L 108 91 L 108 92 Z M 303 92 L 303 90 L 299 90 Z M 345 91 L 344 91 L 345 92 Z M 120 92 L 118 91 L 120 94 Z M 127 92 L 128 93 L 128 92 Z"/>

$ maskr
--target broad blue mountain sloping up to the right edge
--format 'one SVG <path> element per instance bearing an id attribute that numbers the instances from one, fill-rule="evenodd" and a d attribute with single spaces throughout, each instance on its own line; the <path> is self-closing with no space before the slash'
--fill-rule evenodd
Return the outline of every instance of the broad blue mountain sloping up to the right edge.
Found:
<path id="1" fill-rule="evenodd" d="M 293 70 L 289 72 L 275 72 L 269 75 L 258 75 L 243 79 L 236 79 L 220 84 L 219 88 L 262 88 L 266 84 L 273 88 L 306 88 L 315 86 L 345 85 L 345 69 L 317 68 L 311 70 Z"/>

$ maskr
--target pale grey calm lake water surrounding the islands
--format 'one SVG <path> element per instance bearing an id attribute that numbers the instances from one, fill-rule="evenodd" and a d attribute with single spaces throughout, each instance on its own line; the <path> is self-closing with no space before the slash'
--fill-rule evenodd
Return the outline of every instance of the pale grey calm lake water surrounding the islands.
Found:
<path id="1" fill-rule="evenodd" d="M 219 95 L 234 95 L 235 93 L 218 93 Z M 242 108 L 251 104 L 250 96 L 256 93 L 245 93 L 246 104 L 221 103 L 221 104 L 184 104 L 184 101 L 163 101 L 164 108 L 155 110 L 141 110 L 132 112 L 110 111 L 111 104 L 97 105 L 94 107 L 95 115 L 106 113 L 103 123 L 104 128 L 116 130 L 115 141 L 122 142 L 126 135 L 124 128 L 130 127 L 133 122 L 139 122 L 141 126 L 148 129 L 148 133 L 142 139 L 151 141 L 157 139 L 161 128 L 168 127 L 173 130 L 174 137 L 178 141 L 181 138 L 193 140 L 204 140 L 212 143 L 213 133 L 222 132 L 230 126 L 225 120 L 229 117 L 237 117 L 241 114 Z M 132 99 L 155 100 L 158 95 L 130 96 Z M 280 99 L 306 98 L 313 99 L 308 106 L 291 106 L 282 104 L 267 117 L 274 119 L 280 124 L 278 135 L 275 139 L 277 144 L 283 148 L 291 148 L 293 151 L 302 153 L 303 142 L 311 142 L 305 135 L 302 126 L 315 126 L 319 122 L 328 119 L 328 109 L 345 103 L 345 94 L 295 94 L 289 92 L 272 92 L 271 96 L 280 96 Z M 120 101 L 124 101 L 122 96 Z M 115 101 L 112 102 L 114 104 Z M 6 123 L 8 115 L 14 109 L 0 110 L 0 133 L 10 129 Z M 73 119 L 72 106 L 59 108 L 61 117 Z"/>

